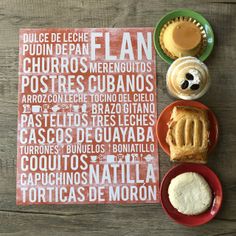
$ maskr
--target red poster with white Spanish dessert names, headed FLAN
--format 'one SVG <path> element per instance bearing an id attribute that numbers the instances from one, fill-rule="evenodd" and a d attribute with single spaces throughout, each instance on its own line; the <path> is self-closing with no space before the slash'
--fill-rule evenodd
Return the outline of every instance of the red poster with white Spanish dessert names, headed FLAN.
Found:
<path id="1" fill-rule="evenodd" d="M 159 202 L 152 28 L 22 29 L 18 205 Z"/>

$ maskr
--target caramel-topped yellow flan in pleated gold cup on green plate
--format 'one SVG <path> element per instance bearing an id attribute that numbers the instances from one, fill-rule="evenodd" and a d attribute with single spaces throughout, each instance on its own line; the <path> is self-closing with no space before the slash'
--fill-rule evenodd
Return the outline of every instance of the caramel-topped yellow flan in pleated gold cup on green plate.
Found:
<path id="1" fill-rule="evenodd" d="M 204 32 L 196 21 L 175 19 L 163 27 L 160 44 L 173 59 L 197 56 L 203 47 Z"/>

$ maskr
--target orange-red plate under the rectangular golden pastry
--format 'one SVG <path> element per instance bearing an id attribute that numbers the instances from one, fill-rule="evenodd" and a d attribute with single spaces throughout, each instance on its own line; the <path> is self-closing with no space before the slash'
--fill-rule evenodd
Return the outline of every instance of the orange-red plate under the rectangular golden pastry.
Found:
<path id="1" fill-rule="evenodd" d="M 209 142 L 208 150 L 209 152 L 212 151 L 218 140 L 218 122 L 214 113 L 207 106 L 205 106 L 204 104 L 200 102 L 179 100 L 167 106 L 161 112 L 157 120 L 157 125 L 156 125 L 157 139 L 160 146 L 165 151 L 165 153 L 170 155 L 170 148 L 169 148 L 168 143 L 166 142 L 166 134 L 168 131 L 167 123 L 170 120 L 172 109 L 175 106 L 192 106 L 192 107 L 197 107 L 197 108 L 201 108 L 203 110 L 208 111 L 208 118 L 210 122 L 210 136 L 209 136 L 210 142 Z"/>

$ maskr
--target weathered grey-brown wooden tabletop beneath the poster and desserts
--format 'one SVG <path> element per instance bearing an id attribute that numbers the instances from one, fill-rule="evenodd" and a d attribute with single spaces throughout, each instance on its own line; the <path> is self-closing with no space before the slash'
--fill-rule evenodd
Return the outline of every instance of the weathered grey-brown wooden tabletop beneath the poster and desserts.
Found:
<path id="1" fill-rule="evenodd" d="M 1 235 L 236 235 L 236 2 L 230 1 L 0 1 L 0 234 Z M 160 204 L 30 206 L 15 204 L 18 30 L 23 27 L 145 27 L 168 11 L 202 13 L 215 32 L 207 60 L 212 86 L 201 101 L 216 114 L 219 143 L 208 165 L 223 184 L 220 213 L 210 223 L 187 228 L 171 221 Z M 158 110 L 167 95 L 168 65 L 157 57 Z M 160 150 L 161 177 L 172 166 Z"/>

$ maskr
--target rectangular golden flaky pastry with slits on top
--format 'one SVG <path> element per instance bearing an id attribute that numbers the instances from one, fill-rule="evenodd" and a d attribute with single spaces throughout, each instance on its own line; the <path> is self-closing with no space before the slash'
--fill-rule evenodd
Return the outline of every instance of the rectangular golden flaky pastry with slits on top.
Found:
<path id="1" fill-rule="evenodd" d="M 206 163 L 208 138 L 207 111 L 187 106 L 173 108 L 166 136 L 171 161 Z"/>

